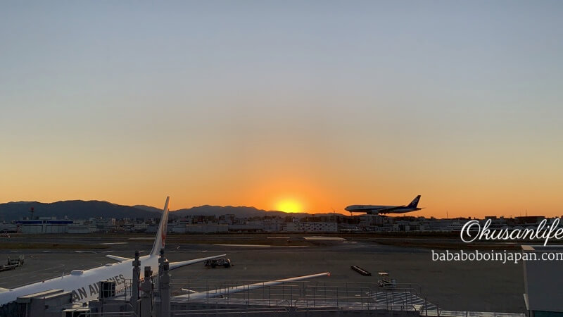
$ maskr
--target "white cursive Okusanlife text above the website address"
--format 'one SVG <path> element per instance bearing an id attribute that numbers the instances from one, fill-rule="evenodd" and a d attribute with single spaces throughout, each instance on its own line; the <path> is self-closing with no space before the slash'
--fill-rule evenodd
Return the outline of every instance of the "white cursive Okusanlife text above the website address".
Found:
<path id="1" fill-rule="evenodd" d="M 463 242 L 469 243 L 475 240 L 543 240 L 543 246 L 548 245 L 550 239 L 560 240 L 563 238 L 563 228 L 558 228 L 559 218 L 555 218 L 548 225 L 548 220 L 543 219 L 538 224 L 538 228 L 524 229 L 490 229 L 491 219 L 487 219 L 485 224 L 481 226 L 479 220 L 469 220 L 463 225 L 460 237 Z"/>

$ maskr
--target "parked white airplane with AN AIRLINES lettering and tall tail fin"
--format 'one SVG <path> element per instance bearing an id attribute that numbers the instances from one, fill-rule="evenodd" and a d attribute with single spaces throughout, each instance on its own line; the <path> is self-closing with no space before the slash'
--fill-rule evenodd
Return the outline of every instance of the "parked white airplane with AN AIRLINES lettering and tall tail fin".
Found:
<path id="1" fill-rule="evenodd" d="M 165 245 L 169 203 L 170 197 L 167 197 L 163 209 L 163 216 L 162 218 L 160 218 L 158 232 L 156 232 L 156 239 L 154 241 L 151 253 L 139 258 L 139 260 L 141 261 L 141 268 L 144 268 L 145 266 L 151 266 L 151 270 L 155 273 L 158 272 L 158 257 L 160 249 L 164 249 Z M 219 258 L 225 255 L 226 254 L 220 254 L 217 256 L 208 256 L 201 259 L 171 262 L 170 270 L 205 260 Z M 107 255 L 107 257 L 119 261 L 120 263 L 108 263 L 105 266 L 92 268 L 86 271 L 75 270 L 71 271 L 70 274 L 63 275 L 58 278 L 51 278 L 50 280 L 44 280 L 42 282 L 36 282 L 22 287 L 16 287 L 11 290 L 5 288 L 0 289 L 0 306 L 13 302 L 20 296 L 53 289 L 72 292 L 72 300 L 74 302 L 88 302 L 89 300 L 98 298 L 98 293 L 100 292 L 99 282 L 101 280 L 115 280 L 115 292 L 122 292 L 126 287 L 125 281 L 131 280 L 133 278 L 132 261 L 134 259 L 113 255 Z"/>

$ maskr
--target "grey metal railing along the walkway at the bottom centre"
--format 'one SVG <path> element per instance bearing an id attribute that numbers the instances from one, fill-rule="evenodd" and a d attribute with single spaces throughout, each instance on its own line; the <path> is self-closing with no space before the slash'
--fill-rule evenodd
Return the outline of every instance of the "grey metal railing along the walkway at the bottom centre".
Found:
<path id="1" fill-rule="evenodd" d="M 247 306 L 342 307 L 343 309 L 419 310 L 427 302 L 419 287 L 386 289 L 376 283 L 299 281 L 264 286 L 256 290 L 240 290 L 241 285 L 259 284 L 257 281 L 232 280 L 173 280 L 172 296 L 184 295 L 187 302 L 205 304 L 245 304 Z M 408 285 L 412 286 L 412 285 Z M 235 288 L 237 287 L 237 288 Z M 184 289 L 184 290 L 182 290 Z M 205 293 L 191 297 L 191 292 Z M 217 297 L 217 295 L 222 296 Z"/>

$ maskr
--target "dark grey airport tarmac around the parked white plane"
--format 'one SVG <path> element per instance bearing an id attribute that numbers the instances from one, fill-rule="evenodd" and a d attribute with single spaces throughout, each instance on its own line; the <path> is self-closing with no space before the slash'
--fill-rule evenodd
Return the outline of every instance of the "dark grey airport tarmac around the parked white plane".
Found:
<path id="1" fill-rule="evenodd" d="M 234 244 L 237 244 L 235 241 L 245 239 L 244 236 L 232 237 Z M 435 262 L 431 259 L 429 249 L 350 240 L 324 241 L 322 244 L 301 247 L 255 247 L 241 244 L 189 244 L 189 235 L 170 238 L 166 245 L 166 255 L 170 261 L 227 254 L 234 263 L 232 268 L 215 269 L 204 268 L 203 263 L 196 263 L 172 271 L 172 281 L 275 280 L 330 272 L 330 277 L 315 281 L 377 283 L 377 272 L 386 271 L 398 283 L 418 285 L 415 287 L 419 287 L 428 302 L 437 304 L 441 309 L 513 313 L 525 311 L 521 263 Z M 293 236 L 292 239 L 299 240 Z M 5 261 L 11 255 L 25 255 L 23 267 L 16 268 L 15 271 L 0 272 L 0 287 L 17 287 L 70 273 L 72 270 L 86 270 L 114 262 L 106 258 L 106 254 L 132 257 L 135 249 L 149 251 L 153 242 L 150 236 L 128 235 L 15 237 L 15 241 L 18 240 L 27 243 L 103 245 L 106 249 L 0 250 L 0 261 Z M 272 240 L 265 240 L 264 244 L 267 242 Z M 373 275 L 360 275 L 350 269 L 353 265 L 365 268 Z"/>

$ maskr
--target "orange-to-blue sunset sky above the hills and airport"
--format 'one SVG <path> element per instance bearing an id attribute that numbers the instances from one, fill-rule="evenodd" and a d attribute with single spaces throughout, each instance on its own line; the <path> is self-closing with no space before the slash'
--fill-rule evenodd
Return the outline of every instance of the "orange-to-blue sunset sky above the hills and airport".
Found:
<path id="1" fill-rule="evenodd" d="M 561 216 L 562 16 L 562 1 L 4 2 L 0 202 L 345 212 L 422 194 L 414 216 Z"/>

